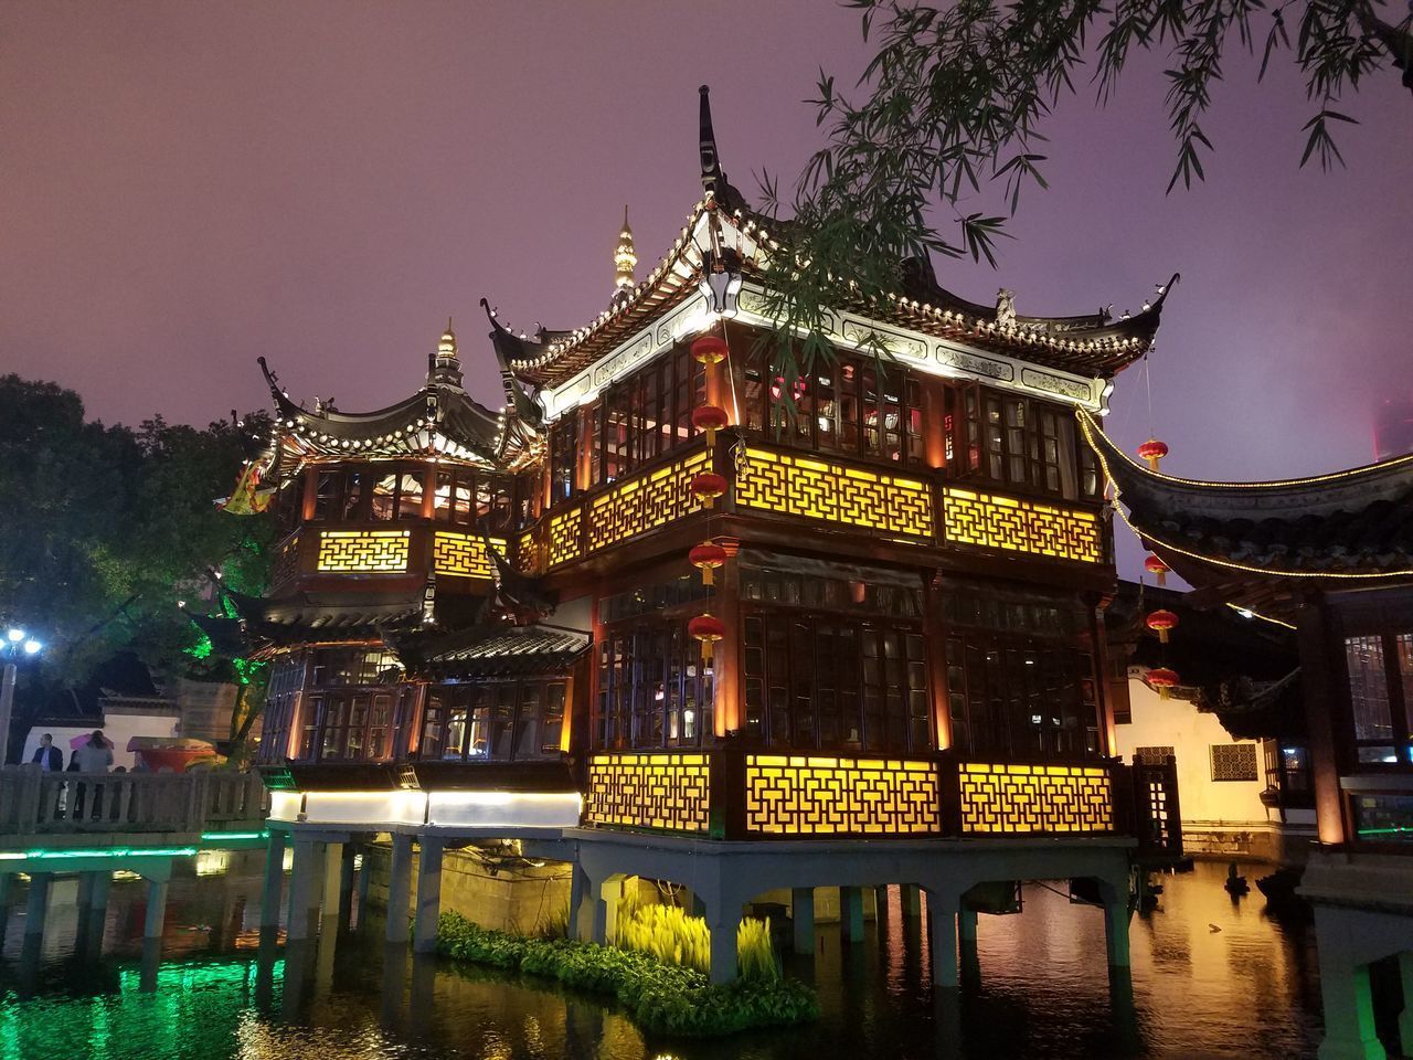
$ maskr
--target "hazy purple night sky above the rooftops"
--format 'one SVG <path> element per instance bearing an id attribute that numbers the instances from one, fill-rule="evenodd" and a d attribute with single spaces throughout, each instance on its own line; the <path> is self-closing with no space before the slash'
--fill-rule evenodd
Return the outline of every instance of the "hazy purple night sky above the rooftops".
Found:
<path id="1" fill-rule="evenodd" d="M 699 194 L 699 83 L 753 196 L 818 146 L 818 66 L 846 83 L 865 59 L 856 16 L 818 0 L 3 10 L 0 370 L 126 423 L 264 407 L 261 353 L 297 397 L 387 404 L 448 314 L 499 404 L 478 300 L 519 329 L 586 322 L 625 202 L 650 267 Z M 1256 86 L 1231 57 L 1208 182 L 1164 195 L 1163 64 L 1135 61 L 1106 110 L 1087 92 L 1048 123 L 1051 189 L 1023 196 L 999 273 L 937 263 L 1022 314 L 1137 310 L 1181 271 L 1152 358 L 1178 475 L 1366 462 L 1375 404 L 1413 393 L 1413 102 L 1381 73 L 1341 107 L 1349 168 L 1301 171 L 1313 106 L 1275 65 Z M 1140 366 L 1113 404 L 1132 449 Z"/>

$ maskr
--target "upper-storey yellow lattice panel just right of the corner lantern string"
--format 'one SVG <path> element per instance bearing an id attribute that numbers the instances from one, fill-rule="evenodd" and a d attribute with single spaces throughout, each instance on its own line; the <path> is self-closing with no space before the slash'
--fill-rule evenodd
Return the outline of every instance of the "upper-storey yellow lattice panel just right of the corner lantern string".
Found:
<path id="1" fill-rule="evenodd" d="M 736 503 L 900 537 L 933 536 L 926 482 L 755 447 L 736 475 Z"/>

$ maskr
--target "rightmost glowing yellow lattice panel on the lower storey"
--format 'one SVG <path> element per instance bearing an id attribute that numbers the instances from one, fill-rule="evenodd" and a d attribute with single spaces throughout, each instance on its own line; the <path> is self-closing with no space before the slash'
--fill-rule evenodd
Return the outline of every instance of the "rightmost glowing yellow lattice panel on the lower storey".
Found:
<path id="1" fill-rule="evenodd" d="M 1098 766 L 1022 766 L 962 762 L 962 832 L 1112 832 L 1113 791 Z"/>

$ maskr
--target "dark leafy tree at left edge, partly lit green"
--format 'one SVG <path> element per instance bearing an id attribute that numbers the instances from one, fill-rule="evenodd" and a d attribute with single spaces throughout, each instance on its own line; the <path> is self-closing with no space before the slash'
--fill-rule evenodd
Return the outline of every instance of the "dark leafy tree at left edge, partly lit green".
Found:
<path id="1" fill-rule="evenodd" d="M 259 677 L 202 652 L 177 601 L 195 605 L 213 568 L 263 588 L 273 520 L 212 502 L 268 438 L 268 418 L 106 427 L 73 391 L 13 375 L 0 407 L 0 608 L 45 642 L 47 678 L 81 685 L 119 650 L 174 676 Z"/>

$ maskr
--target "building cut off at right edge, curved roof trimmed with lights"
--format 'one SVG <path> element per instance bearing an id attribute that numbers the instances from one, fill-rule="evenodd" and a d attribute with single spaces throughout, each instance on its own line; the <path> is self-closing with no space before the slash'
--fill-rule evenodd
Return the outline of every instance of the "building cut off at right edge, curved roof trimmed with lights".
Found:
<path id="1" fill-rule="evenodd" d="M 1316 907 L 1320 1056 L 1382 1060 L 1369 970 L 1390 960 L 1413 1053 L 1413 457 L 1194 482 L 1129 459 L 1092 418 L 1084 430 L 1133 527 L 1194 587 L 1188 605 L 1296 629 L 1318 830 L 1300 893 Z"/>

